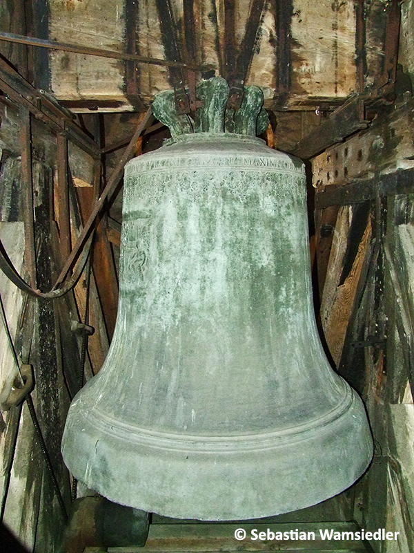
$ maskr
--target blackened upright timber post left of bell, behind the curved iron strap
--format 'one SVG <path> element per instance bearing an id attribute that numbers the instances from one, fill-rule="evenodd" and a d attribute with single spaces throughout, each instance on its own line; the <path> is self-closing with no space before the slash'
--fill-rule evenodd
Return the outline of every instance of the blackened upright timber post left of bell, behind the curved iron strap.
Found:
<path id="1" fill-rule="evenodd" d="M 34 165 L 34 192 L 35 192 L 35 231 L 38 240 L 38 283 L 41 288 L 50 288 L 52 285 L 52 263 L 50 258 L 50 223 L 51 214 L 51 171 L 40 164 Z M 56 330 L 55 330 L 55 305 L 52 300 L 38 300 L 34 308 L 34 335 L 32 350 L 30 351 L 30 364 L 34 366 L 36 386 L 33 393 L 34 407 L 39 420 L 39 426 L 43 439 L 47 444 L 47 455 L 50 459 L 52 471 L 59 482 L 59 488 L 63 497 L 68 500 L 67 471 L 61 461 L 60 440 L 68 405 L 68 396 L 63 385 L 63 375 L 58 371 Z M 69 355 L 68 350 L 66 354 Z M 37 447 L 39 436 L 34 438 Z M 46 462 L 46 468 L 48 463 Z M 41 528 L 43 532 L 37 534 L 37 546 L 43 549 L 57 540 L 63 524 L 59 503 L 55 503 L 55 485 L 50 478 L 50 468 L 46 469 L 43 478 L 41 494 L 41 518 L 44 509 L 54 506 L 49 518 L 44 517 Z M 56 509 L 56 510 L 55 510 Z M 43 534 L 43 535 L 42 535 Z"/>

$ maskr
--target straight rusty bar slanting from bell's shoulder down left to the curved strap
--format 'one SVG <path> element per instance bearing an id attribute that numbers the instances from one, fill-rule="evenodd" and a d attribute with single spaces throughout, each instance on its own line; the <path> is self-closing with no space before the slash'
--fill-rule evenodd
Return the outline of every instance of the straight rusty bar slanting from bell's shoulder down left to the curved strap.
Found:
<path id="1" fill-rule="evenodd" d="M 75 244 L 75 247 L 73 248 L 72 252 L 70 252 L 70 256 L 66 260 L 65 265 L 63 265 L 63 269 L 59 274 L 59 277 L 57 279 L 57 282 L 55 283 L 54 288 L 57 288 L 59 284 L 63 282 L 63 280 L 66 278 L 66 275 L 70 271 L 70 268 L 72 267 L 72 263 L 74 263 L 75 260 L 77 259 L 77 256 L 79 256 L 79 253 L 81 252 L 83 245 L 86 239 L 88 238 L 92 227 L 95 225 L 97 216 L 100 214 L 101 210 L 103 209 L 103 206 L 105 205 L 105 200 L 110 200 L 110 198 L 112 198 L 112 194 L 114 194 L 115 189 L 117 188 L 119 179 L 121 178 L 122 171 L 124 171 L 124 166 L 126 162 L 130 160 L 130 158 L 132 158 L 135 150 L 135 144 L 137 143 L 137 140 L 141 135 L 142 131 L 146 129 L 146 126 L 148 125 L 148 122 L 151 119 L 152 119 L 152 111 L 151 109 L 148 109 L 148 111 L 146 112 L 146 115 L 144 116 L 144 119 L 137 126 L 137 130 L 135 131 L 135 134 L 132 136 L 132 139 L 130 140 L 128 148 L 124 151 L 123 156 L 121 157 L 117 166 L 113 170 L 112 175 L 108 180 L 108 184 L 106 185 L 101 196 L 99 196 L 97 202 L 95 203 L 95 206 L 92 209 L 92 212 L 88 218 L 88 221 L 83 227 L 81 234 L 79 234 L 79 238 L 77 239 L 77 243 Z"/>

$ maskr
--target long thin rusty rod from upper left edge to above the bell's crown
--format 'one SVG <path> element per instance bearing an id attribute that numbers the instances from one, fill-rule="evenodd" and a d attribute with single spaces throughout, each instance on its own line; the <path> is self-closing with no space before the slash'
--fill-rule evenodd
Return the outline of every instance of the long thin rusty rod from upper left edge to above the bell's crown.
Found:
<path id="1" fill-rule="evenodd" d="M 49 48 L 50 50 L 61 50 L 63 52 L 72 52 L 75 54 L 86 54 L 90 56 L 108 57 L 115 59 L 124 59 L 141 64 L 152 64 L 167 67 L 182 67 L 190 69 L 202 69 L 200 66 L 186 64 L 184 62 L 172 62 L 157 57 L 146 57 L 137 54 L 128 54 L 126 52 L 116 52 L 115 50 L 104 50 L 101 48 L 91 48 L 90 46 L 77 46 L 76 44 L 64 44 L 45 39 L 15 35 L 13 32 L 0 32 L 0 41 L 15 42 L 17 44 L 28 44 L 30 46 L 39 46 L 39 48 Z"/>

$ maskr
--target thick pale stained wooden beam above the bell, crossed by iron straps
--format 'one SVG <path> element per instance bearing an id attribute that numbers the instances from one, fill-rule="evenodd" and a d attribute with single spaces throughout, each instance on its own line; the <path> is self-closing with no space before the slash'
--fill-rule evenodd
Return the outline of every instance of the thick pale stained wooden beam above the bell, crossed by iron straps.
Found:
<path id="1" fill-rule="evenodd" d="M 187 23 L 190 26 L 191 10 L 187 9 L 189 3 L 170 0 L 179 30 Z M 225 14 L 226 8 L 232 5 L 233 24 Z M 253 26 L 255 21 L 255 17 L 249 17 L 252 5 L 250 0 L 194 1 L 195 45 L 199 62 L 226 77 L 222 60 L 226 50 L 225 43 L 233 41 L 233 54 L 230 53 L 227 57 L 233 56 L 234 66 L 237 57 L 235 44 L 242 44 L 246 24 Z M 76 7 L 73 8 L 74 6 Z M 72 37 L 75 35 L 76 44 L 80 47 L 108 49 L 121 57 L 124 39 L 129 34 L 126 33 L 129 20 L 119 17 L 124 14 L 124 6 L 125 2 L 121 0 L 90 0 L 87 8 L 81 2 L 63 7 L 60 1 L 51 0 L 50 39 L 59 44 L 68 44 L 74 41 Z M 315 109 L 324 102 L 334 106 L 342 104 L 351 93 L 362 91 L 363 87 L 357 84 L 355 67 L 357 17 L 354 6 L 354 2 L 333 3 L 331 0 L 321 0 L 318 3 L 319 9 L 315 10 L 313 3 L 308 0 L 297 0 L 294 3 L 277 3 L 272 0 L 266 3 L 262 12 L 263 24 L 257 36 L 253 32 L 249 33 L 250 44 L 253 43 L 253 62 L 245 83 L 264 87 L 266 108 L 302 110 L 304 106 L 308 109 L 313 106 Z M 381 4 L 381 7 L 384 6 Z M 101 17 L 103 11 L 106 13 L 105 18 Z M 164 51 L 155 3 L 137 2 L 136 15 L 137 50 L 148 57 L 161 59 Z M 373 26 L 370 13 L 366 17 L 367 26 Z M 373 19 L 376 23 L 375 18 Z M 380 66 L 386 17 L 377 19 L 379 23 L 375 25 L 375 33 L 368 35 L 364 46 L 370 53 L 369 64 L 374 65 L 380 60 L 377 64 Z M 230 30 L 232 27 L 233 31 Z M 188 44 L 186 29 L 184 35 Z M 359 44 L 359 48 L 363 46 Z M 188 44 L 187 50 L 190 49 Z M 252 52 L 250 46 L 247 50 Z M 242 53 L 240 48 L 239 53 Z M 115 57 L 99 60 L 88 56 L 85 59 L 77 53 L 50 50 L 49 58 L 52 90 L 60 100 L 115 101 L 121 104 L 117 108 L 119 110 L 134 109 L 126 96 L 125 66 L 118 63 Z M 359 75 L 365 77 L 366 73 Z M 378 72 L 371 71 L 369 77 L 374 73 Z M 368 84 L 367 80 L 364 78 L 364 85 Z M 165 67 L 140 64 L 139 91 L 144 104 L 148 105 L 157 92 L 166 88 L 168 73 Z M 288 94 L 283 102 L 286 88 Z"/>

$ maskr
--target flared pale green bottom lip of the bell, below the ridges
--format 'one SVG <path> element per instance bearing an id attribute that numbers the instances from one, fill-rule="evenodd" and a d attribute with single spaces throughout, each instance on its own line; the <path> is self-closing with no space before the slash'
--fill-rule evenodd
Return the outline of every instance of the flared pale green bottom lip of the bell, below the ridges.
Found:
<path id="1" fill-rule="evenodd" d="M 76 413 L 77 429 L 65 429 L 63 460 L 90 489 L 148 512 L 201 521 L 276 516 L 331 498 L 366 471 L 373 440 L 364 405 L 351 393 L 351 405 L 341 417 L 318 432 L 304 433 L 303 440 L 275 443 L 273 451 L 137 449 L 119 436 L 96 433 L 88 413 Z M 83 435 L 83 447 L 75 446 L 76 433 Z"/>

